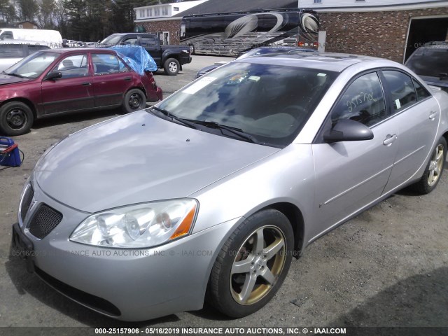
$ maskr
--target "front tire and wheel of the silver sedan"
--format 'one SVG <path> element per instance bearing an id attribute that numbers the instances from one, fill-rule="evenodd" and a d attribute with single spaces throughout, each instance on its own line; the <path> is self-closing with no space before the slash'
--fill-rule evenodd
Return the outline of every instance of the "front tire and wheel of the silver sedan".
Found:
<path id="1" fill-rule="evenodd" d="M 239 318 L 261 309 L 288 273 L 293 229 L 281 212 L 267 209 L 244 221 L 218 254 L 209 279 L 209 301 Z"/>

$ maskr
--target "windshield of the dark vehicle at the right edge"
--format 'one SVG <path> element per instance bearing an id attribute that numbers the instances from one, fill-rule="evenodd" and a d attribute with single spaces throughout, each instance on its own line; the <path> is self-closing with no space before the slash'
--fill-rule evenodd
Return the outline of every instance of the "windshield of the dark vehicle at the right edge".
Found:
<path id="1" fill-rule="evenodd" d="M 438 77 L 448 73 L 448 48 L 419 48 L 409 57 L 406 66 L 420 76 Z"/>

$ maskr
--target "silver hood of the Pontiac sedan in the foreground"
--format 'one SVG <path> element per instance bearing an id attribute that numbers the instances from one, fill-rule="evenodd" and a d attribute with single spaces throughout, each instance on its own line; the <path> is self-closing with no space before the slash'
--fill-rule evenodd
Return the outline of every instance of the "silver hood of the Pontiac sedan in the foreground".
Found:
<path id="1" fill-rule="evenodd" d="M 53 199 L 97 212 L 187 197 L 277 151 L 137 111 L 71 134 L 44 154 L 34 176 Z"/>

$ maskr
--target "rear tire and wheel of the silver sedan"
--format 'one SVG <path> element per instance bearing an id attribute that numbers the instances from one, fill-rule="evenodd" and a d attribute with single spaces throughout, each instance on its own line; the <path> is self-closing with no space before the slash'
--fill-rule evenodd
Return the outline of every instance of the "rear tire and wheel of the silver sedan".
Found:
<path id="1" fill-rule="evenodd" d="M 447 141 L 442 137 L 434 148 L 423 176 L 414 184 L 414 189 L 418 193 L 426 195 L 435 189 L 442 176 L 445 160 L 447 160 Z"/>

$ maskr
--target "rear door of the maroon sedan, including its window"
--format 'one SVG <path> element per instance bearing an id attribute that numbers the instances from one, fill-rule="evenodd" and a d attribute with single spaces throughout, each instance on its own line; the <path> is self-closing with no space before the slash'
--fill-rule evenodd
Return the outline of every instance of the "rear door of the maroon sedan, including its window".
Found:
<path id="1" fill-rule="evenodd" d="M 92 52 L 94 106 L 119 106 L 134 72 L 113 53 Z"/>

